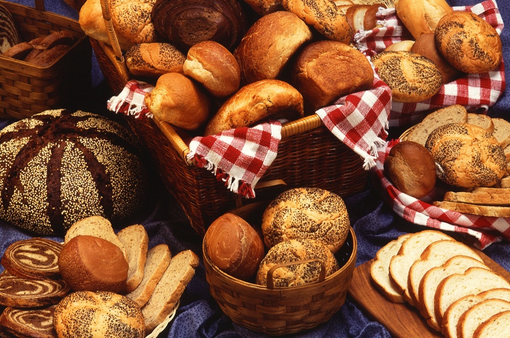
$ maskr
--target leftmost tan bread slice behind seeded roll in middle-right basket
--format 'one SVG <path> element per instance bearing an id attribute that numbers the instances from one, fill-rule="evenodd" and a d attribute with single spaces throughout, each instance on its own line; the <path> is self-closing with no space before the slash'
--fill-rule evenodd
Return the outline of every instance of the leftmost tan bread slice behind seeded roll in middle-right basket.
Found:
<path id="1" fill-rule="evenodd" d="M 423 121 L 417 124 L 405 139 L 424 146 L 430 133 L 437 127 L 448 123 L 466 123 L 467 120 L 468 112 L 464 106 L 448 106 L 425 116 Z"/>

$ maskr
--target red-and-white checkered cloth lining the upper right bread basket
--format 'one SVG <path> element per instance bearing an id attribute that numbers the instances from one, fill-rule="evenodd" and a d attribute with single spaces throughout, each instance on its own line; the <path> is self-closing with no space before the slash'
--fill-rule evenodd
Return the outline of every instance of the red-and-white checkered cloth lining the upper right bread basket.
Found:
<path id="1" fill-rule="evenodd" d="M 484 1 L 475 6 L 453 7 L 454 11 L 471 11 L 489 22 L 498 33 L 503 30 L 503 19 L 497 4 L 493 0 Z M 355 46 L 366 56 L 374 56 L 389 45 L 414 40 L 397 17 L 395 8 L 379 9 L 377 13 L 380 28 L 359 31 L 355 34 Z M 504 64 L 493 71 L 479 74 L 466 74 L 458 80 L 441 86 L 439 92 L 431 98 L 413 103 L 392 102 L 389 126 L 406 126 L 420 122 L 431 110 L 451 105 L 462 105 L 466 109 L 487 111 L 496 103 L 505 90 Z"/>

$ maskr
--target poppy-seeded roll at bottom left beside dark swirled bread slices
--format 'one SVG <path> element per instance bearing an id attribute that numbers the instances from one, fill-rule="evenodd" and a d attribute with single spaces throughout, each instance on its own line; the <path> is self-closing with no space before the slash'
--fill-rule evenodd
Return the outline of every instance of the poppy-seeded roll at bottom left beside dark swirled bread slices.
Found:
<path id="1" fill-rule="evenodd" d="M 59 337 L 145 337 L 140 307 L 107 291 L 78 291 L 66 296 L 55 309 L 53 324 Z"/>

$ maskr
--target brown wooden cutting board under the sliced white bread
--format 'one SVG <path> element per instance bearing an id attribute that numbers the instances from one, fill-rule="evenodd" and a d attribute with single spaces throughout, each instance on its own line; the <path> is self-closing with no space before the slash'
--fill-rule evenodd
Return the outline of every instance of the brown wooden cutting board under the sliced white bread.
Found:
<path id="1" fill-rule="evenodd" d="M 476 250 L 476 249 L 475 249 Z M 510 273 L 483 252 L 476 250 L 483 261 L 510 281 Z M 371 319 L 384 325 L 396 338 L 436 338 L 443 334 L 431 329 L 419 311 L 407 303 L 393 303 L 375 289 L 370 277 L 370 264 L 366 262 L 354 269 L 348 289 L 351 299 L 358 303 Z"/>

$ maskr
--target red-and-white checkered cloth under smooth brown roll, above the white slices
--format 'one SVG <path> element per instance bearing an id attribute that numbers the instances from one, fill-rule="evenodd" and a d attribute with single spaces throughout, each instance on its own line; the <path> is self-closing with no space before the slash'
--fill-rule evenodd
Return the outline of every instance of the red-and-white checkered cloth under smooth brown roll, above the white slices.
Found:
<path id="1" fill-rule="evenodd" d="M 479 249 L 487 248 L 492 243 L 502 240 L 510 240 L 509 217 L 464 214 L 430 204 L 433 198 L 441 198 L 444 191 L 434 190 L 422 199 L 416 199 L 399 191 L 384 175 L 384 161 L 390 149 L 398 142 L 400 140 L 392 140 L 377 149 L 379 155 L 372 169 L 372 173 L 380 182 L 383 198 L 397 215 L 411 223 L 471 235 L 475 239 L 474 245 Z"/>

